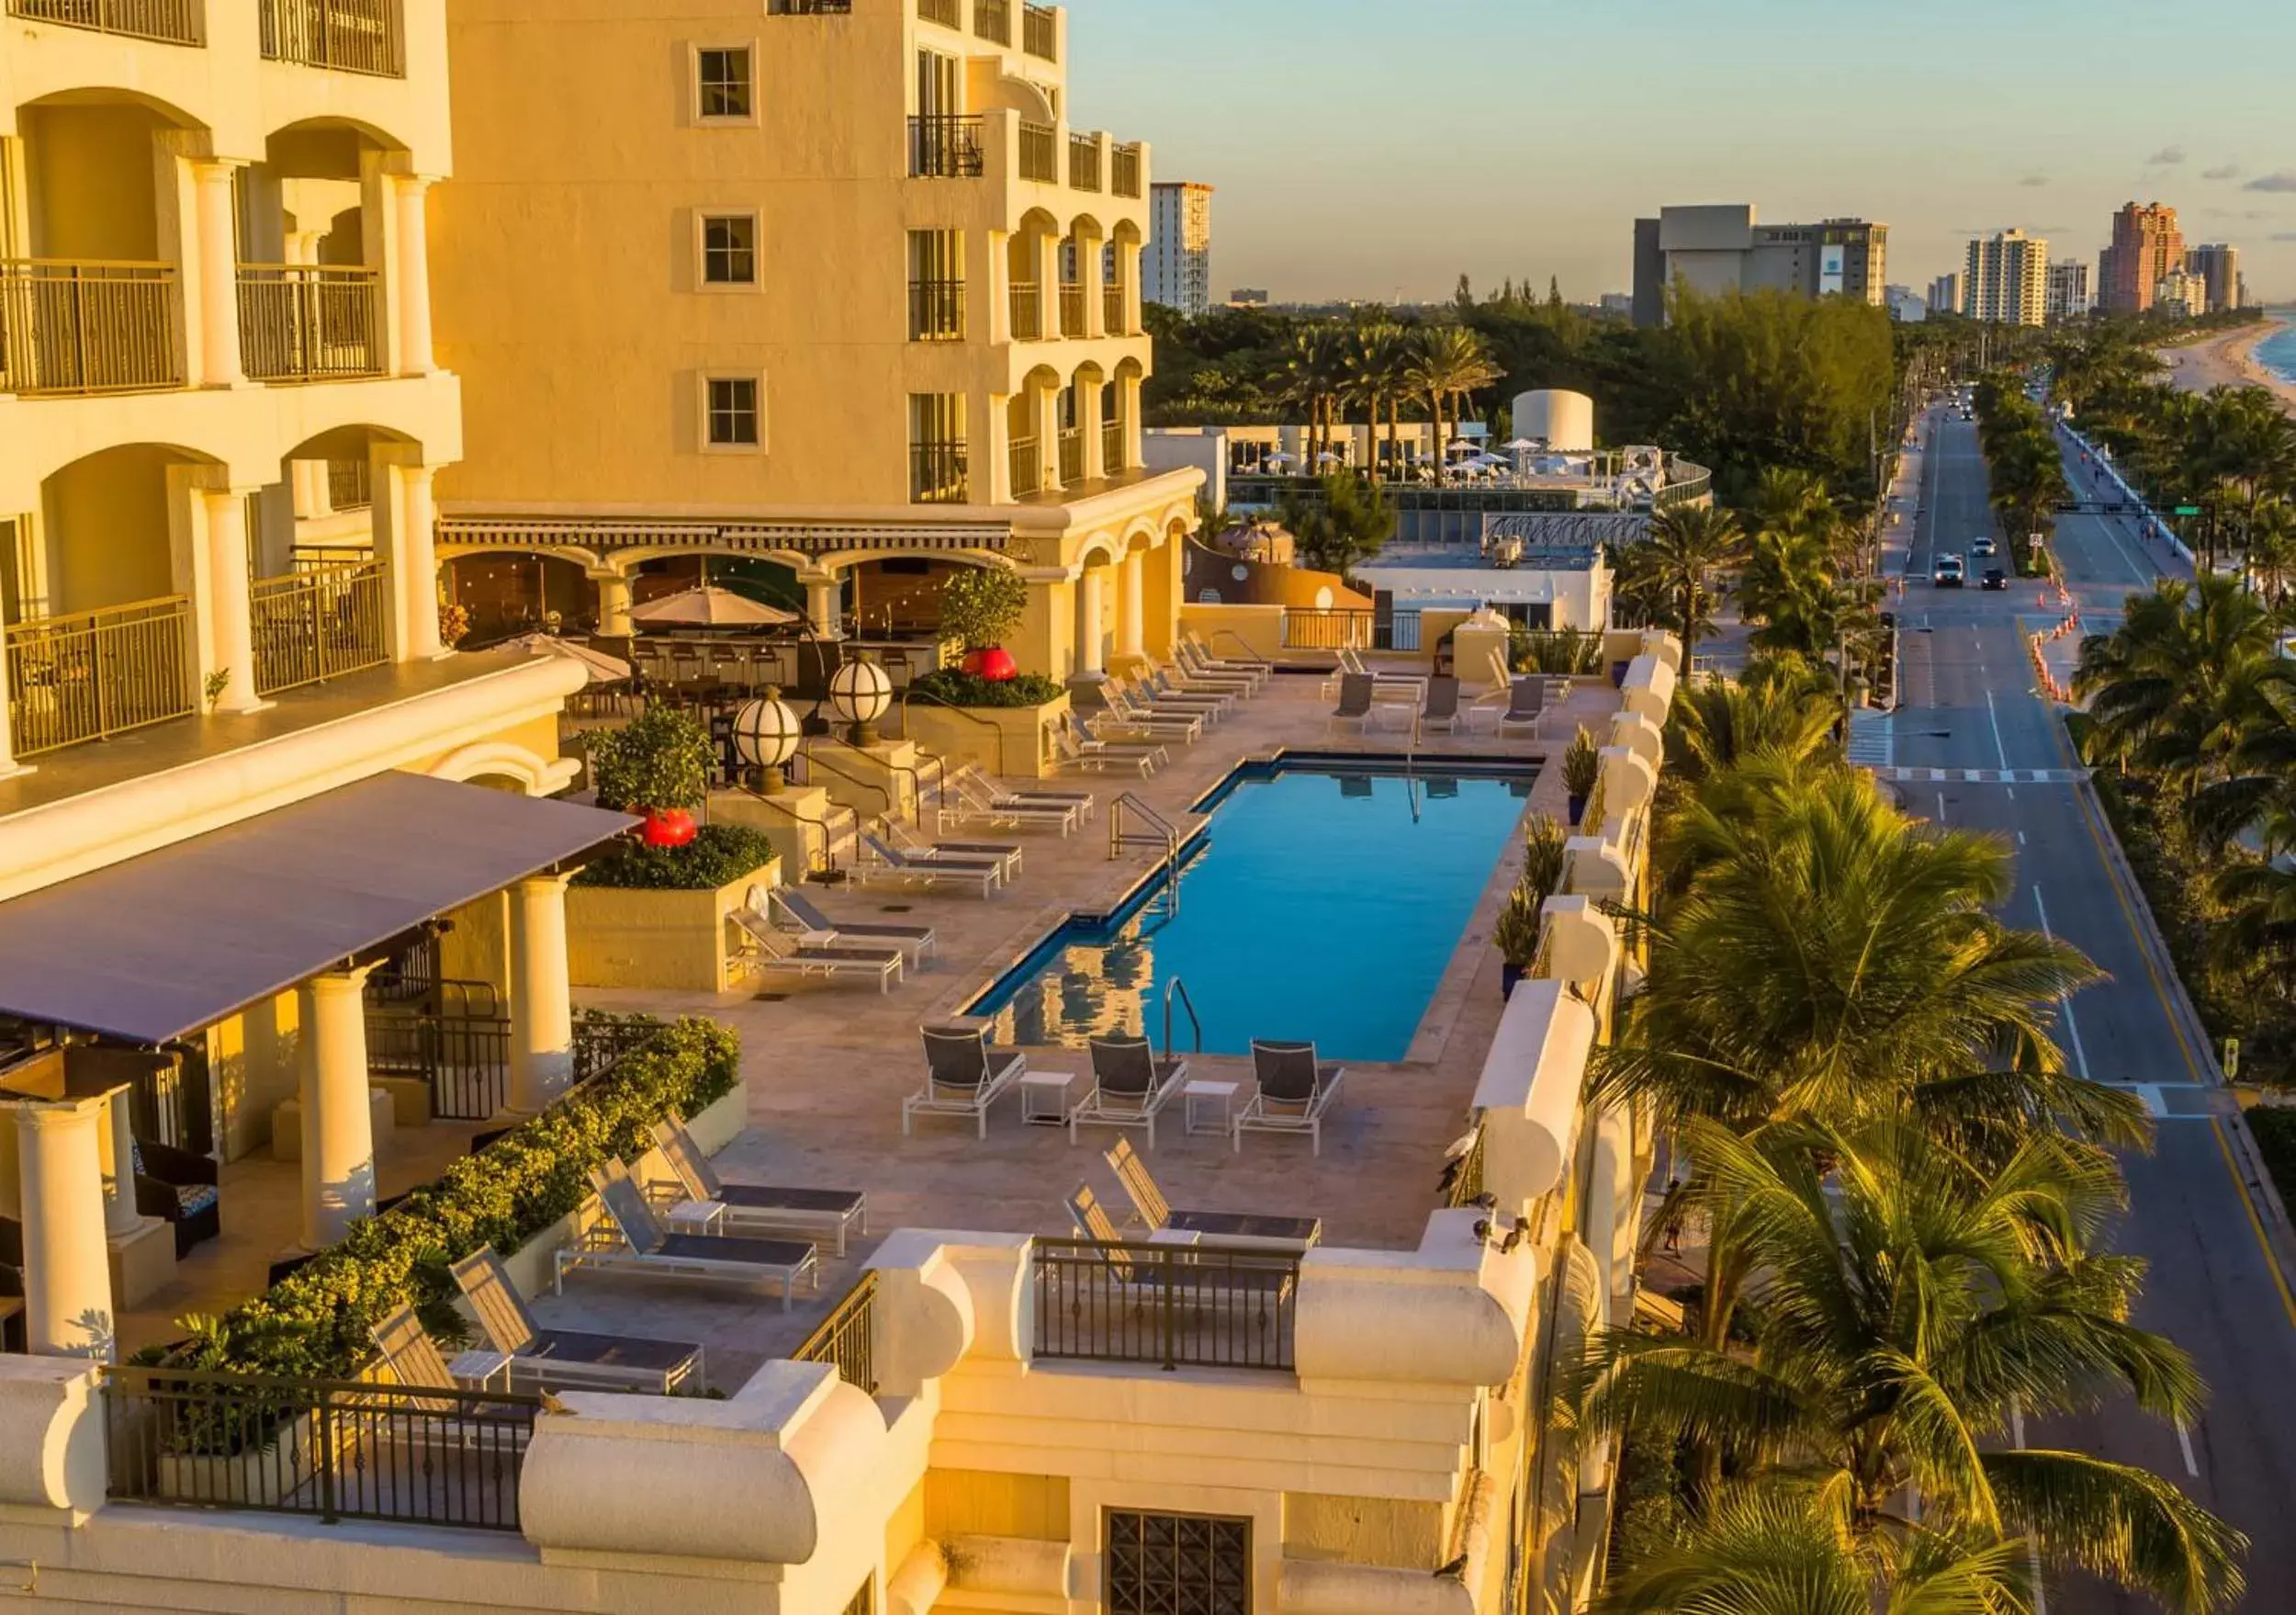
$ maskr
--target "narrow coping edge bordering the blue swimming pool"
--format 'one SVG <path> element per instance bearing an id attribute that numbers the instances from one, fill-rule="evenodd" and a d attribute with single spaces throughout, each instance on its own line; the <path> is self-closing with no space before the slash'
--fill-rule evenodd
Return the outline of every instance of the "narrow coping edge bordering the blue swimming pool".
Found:
<path id="1" fill-rule="evenodd" d="M 1212 781 L 1199 797 L 1187 806 L 1194 822 L 1182 827 L 1180 834 L 1180 868 L 1201 848 L 1205 834 L 1210 832 L 1210 816 L 1226 802 L 1228 795 L 1254 772 L 1283 772 L 1286 767 L 1355 767 L 1371 770 L 1380 774 L 1465 774 L 1472 779 L 1508 779 L 1529 776 L 1536 786 L 1538 776 L 1548 767 L 1545 754 L 1534 756 L 1506 756 L 1506 754 L 1442 754 L 1442 756 L 1414 756 L 1405 751 L 1332 751 L 1313 747 L 1279 747 L 1274 751 L 1247 754 L 1235 760 L 1235 765 Z M 1403 1071 L 1410 1066 L 1435 1066 L 1449 1041 L 1451 1025 L 1458 1018 L 1458 1006 L 1474 986 L 1474 976 L 1483 965 L 1483 953 L 1490 949 L 1490 933 L 1497 921 L 1497 912 L 1506 901 L 1506 894 L 1515 889 L 1522 880 L 1522 827 L 1531 816 L 1531 799 L 1525 797 L 1522 811 L 1515 816 L 1515 829 L 1499 852 L 1490 878 L 1483 882 L 1481 894 L 1476 894 L 1474 907 L 1467 912 L 1467 924 L 1460 928 L 1460 937 L 1451 949 L 1451 958 L 1444 963 L 1442 974 L 1435 979 L 1435 988 L 1428 992 L 1426 1009 L 1419 1013 L 1419 1025 L 1412 1029 L 1412 1041 L 1403 1050 L 1403 1059 L 1375 1061 L 1375 1059 L 1352 1059 L 1350 1066 L 1366 1071 Z M 1114 903 L 1107 907 L 1070 907 L 1061 903 L 1047 903 L 1038 910 L 1033 924 L 1022 933 L 1022 944 L 992 963 L 985 972 L 971 972 L 962 990 L 944 992 L 928 1025 L 978 1025 L 994 1015 L 978 1013 L 976 1004 L 990 997 L 1013 972 L 1026 965 L 1038 951 L 1047 949 L 1054 937 L 1072 924 L 1111 924 L 1148 901 L 1155 884 L 1164 878 L 1164 864 L 1153 861 L 1139 873 L 1137 880 L 1127 882 Z M 1052 1048 L 1052 1045 L 1047 1045 Z M 1068 1048 L 1068 1045 L 1058 1045 Z M 1079 1050 L 1081 1052 L 1081 1050 Z M 1210 1054 L 1205 1057 L 1210 1059 Z M 1221 1059 L 1247 1059 L 1244 1054 L 1224 1054 Z"/>

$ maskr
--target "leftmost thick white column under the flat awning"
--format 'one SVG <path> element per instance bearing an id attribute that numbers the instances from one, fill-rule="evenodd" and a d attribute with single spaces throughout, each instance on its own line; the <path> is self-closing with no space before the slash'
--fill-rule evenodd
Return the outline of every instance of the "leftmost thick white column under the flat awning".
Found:
<path id="1" fill-rule="evenodd" d="M 101 1098 L 16 1105 L 23 1316 L 25 1346 L 34 1355 L 113 1355 L 113 1268 L 96 1151 L 101 1110 Z"/>

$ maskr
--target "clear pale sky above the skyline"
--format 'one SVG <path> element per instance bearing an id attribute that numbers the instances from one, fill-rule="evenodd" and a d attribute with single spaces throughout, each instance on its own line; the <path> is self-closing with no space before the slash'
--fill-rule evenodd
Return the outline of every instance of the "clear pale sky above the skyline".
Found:
<path id="1" fill-rule="evenodd" d="M 2161 200 L 2296 299 L 2296 0 L 1068 0 L 1070 119 L 1212 200 L 1215 296 L 1623 292 L 1632 218 L 1975 232 L 2096 260 Z"/>

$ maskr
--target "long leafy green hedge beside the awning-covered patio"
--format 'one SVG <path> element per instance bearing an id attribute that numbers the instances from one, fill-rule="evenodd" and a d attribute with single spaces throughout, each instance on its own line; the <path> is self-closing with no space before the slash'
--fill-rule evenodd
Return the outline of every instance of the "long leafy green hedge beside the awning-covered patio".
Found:
<path id="1" fill-rule="evenodd" d="M 732 1091 L 742 1045 L 709 1020 L 680 1020 L 526 1126 L 450 1165 L 381 1218 L 220 1319 L 186 1319 L 170 1367 L 351 1378 L 374 1355 L 367 1337 L 413 1303 L 448 1337 L 450 1264 L 482 1245 L 517 1250 L 590 1195 L 606 1160 L 652 1149 L 668 1112 L 693 1116 Z"/>

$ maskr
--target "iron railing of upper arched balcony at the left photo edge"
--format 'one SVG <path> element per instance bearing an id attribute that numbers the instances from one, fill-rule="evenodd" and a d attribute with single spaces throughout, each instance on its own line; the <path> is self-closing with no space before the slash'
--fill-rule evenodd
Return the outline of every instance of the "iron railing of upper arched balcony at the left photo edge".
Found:
<path id="1" fill-rule="evenodd" d="M 184 386 L 172 264 L 0 260 L 0 393 Z"/>

